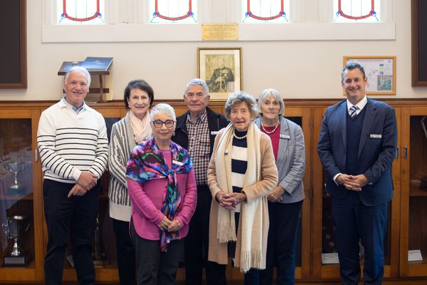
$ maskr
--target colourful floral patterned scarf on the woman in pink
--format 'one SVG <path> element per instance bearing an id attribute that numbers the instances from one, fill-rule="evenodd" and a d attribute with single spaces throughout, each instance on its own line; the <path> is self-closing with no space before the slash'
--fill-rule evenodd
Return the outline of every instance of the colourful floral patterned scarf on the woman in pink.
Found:
<path id="1" fill-rule="evenodd" d="M 126 177 L 139 183 L 152 179 L 167 178 L 167 190 L 164 193 L 162 213 L 171 221 L 178 212 L 181 202 L 179 185 L 176 180 L 177 173 L 188 173 L 193 168 L 189 153 L 180 145 L 171 141 L 172 170 L 164 161 L 154 138 L 145 140 L 135 147 L 127 162 Z M 167 252 L 169 242 L 179 237 L 178 232 L 160 230 L 160 249 Z"/>

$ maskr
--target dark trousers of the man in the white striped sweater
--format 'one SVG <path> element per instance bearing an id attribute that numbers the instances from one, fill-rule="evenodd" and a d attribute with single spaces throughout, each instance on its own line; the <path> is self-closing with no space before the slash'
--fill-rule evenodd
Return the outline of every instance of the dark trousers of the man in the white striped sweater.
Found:
<path id="1" fill-rule="evenodd" d="M 100 181 L 83 196 L 67 197 L 74 184 L 45 179 L 43 202 L 48 227 L 48 247 L 44 269 L 47 285 L 62 284 L 63 264 L 68 237 L 78 284 L 95 284 L 92 236 L 98 209 Z"/>

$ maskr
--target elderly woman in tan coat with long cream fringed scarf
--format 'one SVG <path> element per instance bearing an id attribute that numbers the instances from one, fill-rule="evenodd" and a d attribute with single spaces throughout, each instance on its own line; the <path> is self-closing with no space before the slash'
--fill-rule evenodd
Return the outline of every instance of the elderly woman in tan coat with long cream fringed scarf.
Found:
<path id="1" fill-rule="evenodd" d="M 267 194 L 278 182 L 268 135 L 252 120 L 255 99 L 244 92 L 228 98 L 231 123 L 216 135 L 207 172 L 212 194 L 209 222 L 211 284 L 226 284 L 228 244 L 236 242 L 234 265 L 245 273 L 245 284 L 259 284 L 265 269 L 268 237 Z"/>

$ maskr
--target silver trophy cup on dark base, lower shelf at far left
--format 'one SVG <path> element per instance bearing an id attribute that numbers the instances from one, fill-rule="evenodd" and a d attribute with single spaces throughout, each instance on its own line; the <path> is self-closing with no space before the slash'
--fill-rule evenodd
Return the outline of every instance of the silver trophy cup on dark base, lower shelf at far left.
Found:
<path id="1" fill-rule="evenodd" d="M 30 258 L 21 247 L 22 236 L 30 227 L 28 217 L 23 214 L 8 216 L 7 224 L 2 224 L 2 226 L 7 237 L 14 240 L 12 251 L 3 257 L 3 266 L 28 266 Z"/>

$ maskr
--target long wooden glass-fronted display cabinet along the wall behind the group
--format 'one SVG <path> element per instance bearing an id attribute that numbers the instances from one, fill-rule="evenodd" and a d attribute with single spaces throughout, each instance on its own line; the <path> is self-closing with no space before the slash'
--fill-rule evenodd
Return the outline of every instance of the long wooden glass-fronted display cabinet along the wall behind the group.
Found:
<path id="1" fill-rule="evenodd" d="M 322 253 L 333 252 L 328 242 L 334 242 L 330 215 L 330 197 L 324 192 L 325 173 L 317 155 L 322 115 L 327 106 L 337 100 L 285 100 L 285 117 L 302 126 L 305 137 L 306 171 L 303 179 L 305 201 L 302 204 L 300 231 L 297 233 L 295 278 L 298 281 L 339 280 L 338 264 L 322 264 Z M 393 162 L 394 197 L 389 205 L 389 227 L 386 234 L 385 279 L 405 280 L 417 277 L 427 280 L 427 135 L 421 120 L 427 116 L 427 100 L 386 100 L 396 110 L 398 147 Z M 0 102 L 0 158 L 8 162 L 23 162 L 18 183 L 24 185 L 22 195 L 11 195 L 14 174 L 0 165 L 0 224 L 7 224 L 11 214 L 28 215 L 28 230 L 22 234 L 21 247 L 31 254 L 28 266 L 0 266 L 0 283 L 11 281 L 43 283 L 43 259 L 48 235 L 44 223 L 41 162 L 36 152 L 38 119 L 41 112 L 56 102 Z M 182 100 L 170 103 L 179 116 L 186 112 Z M 112 125 L 127 113 L 122 101 L 89 103 L 104 115 L 110 138 Z M 223 102 L 211 102 L 209 107 L 224 113 Z M 427 124 L 427 118 L 424 120 Z M 102 231 L 103 263 L 95 266 L 97 282 L 118 284 L 115 234 L 108 212 L 109 174 L 102 175 L 100 195 L 100 229 Z M 331 234 L 332 233 L 332 234 Z M 12 241 L 0 231 L 0 263 L 11 250 Z M 423 259 L 408 262 L 408 250 L 420 250 Z M 64 281 L 76 280 L 75 269 L 65 260 Z M 238 269 L 227 267 L 231 283 L 243 281 Z M 177 272 L 177 283 L 185 280 L 184 268 Z M 407 282 L 410 281 L 402 281 Z"/>

